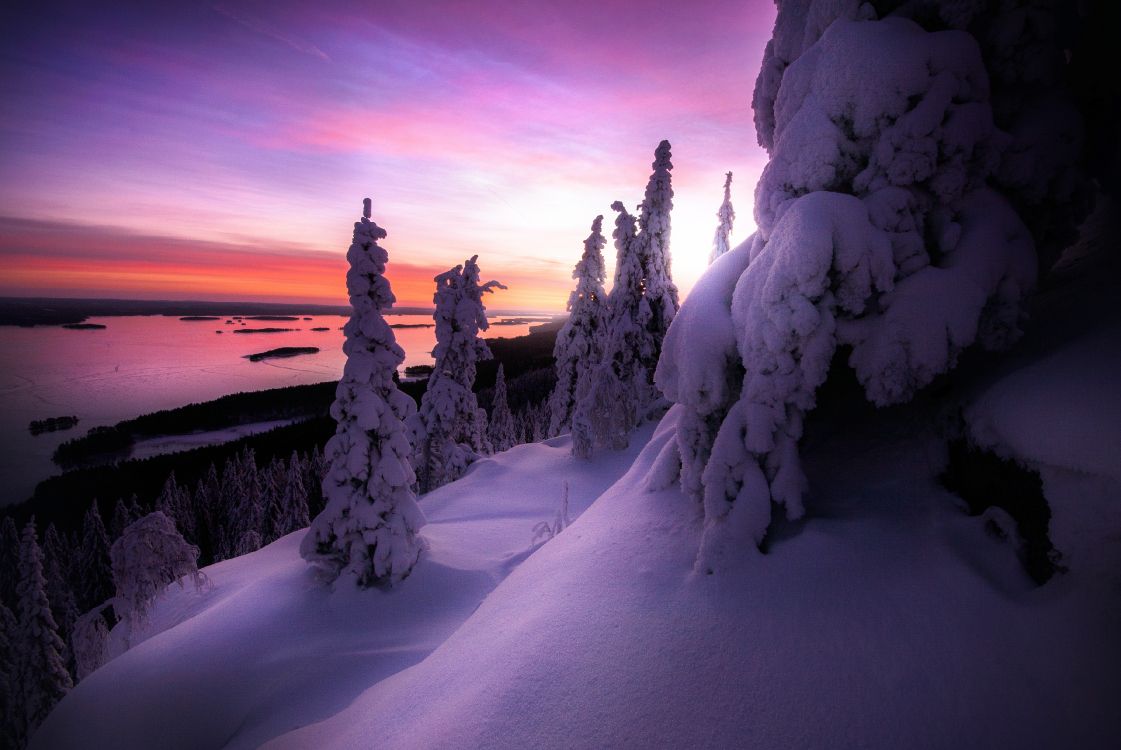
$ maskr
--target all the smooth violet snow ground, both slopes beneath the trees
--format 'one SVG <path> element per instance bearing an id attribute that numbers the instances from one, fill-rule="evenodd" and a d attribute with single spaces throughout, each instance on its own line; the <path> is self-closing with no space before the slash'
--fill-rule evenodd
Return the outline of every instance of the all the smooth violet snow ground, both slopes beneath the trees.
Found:
<path id="1" fill-rule="evenodd" d="M 1013 453 L 1029 448 L 1008 389 L 1115 404 L 1108 378 L 1054 380 L 1097 371 L 1106 345 L 1030 358 L 971 425 Z M 1046 463 L 1045 435 L 1017 456 L 1043 471 L 1069 567 L 1037 587 L 937 484 L 936 405 L 849 409 L 807 426 L 805 519 L 715 575 L 694 573 L 700 503 L 649 490 L 675 407 L 610 489 L 633 448 L 587 464 L 557 438 L 476 464 L 423 500 L 432 550 L 390 594 L 315 587 L 298 535 L 209 568 L 213 592 L 164 600 L 167 629 L 78 685 L 33 747 L 1115 747 L 1117 479 Z M 1114 437 L 1056 439 L 1094 455 Z M 527 555 L 565 479 L 574 511 L 606 491 Z"/>

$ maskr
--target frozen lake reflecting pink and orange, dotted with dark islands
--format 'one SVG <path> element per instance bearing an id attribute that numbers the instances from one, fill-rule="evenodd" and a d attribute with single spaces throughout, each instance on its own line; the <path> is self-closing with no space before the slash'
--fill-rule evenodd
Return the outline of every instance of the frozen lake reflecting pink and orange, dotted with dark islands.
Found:
<path id="1" fill-rule="evenodd" d="M 228 324 L 226 321 L 231 322 Z M 435 330 L 428 315 L 393 315 L 405 365 L 432 363 Z M 493 325 L 489 337 L 521 336 L 528 323 Z M 94 317 L 104 328 L 0 326 L 0 504 L 26 500 L 36 483 L 57 473 L 50 454 L 91 427 L 206 401 L 238 391 L 322 382 L 343 368 L 343 316 L 296 321 L 172 316 Z M 237 328 L 293 328 L 233 333 Z M 326 328 L 315 331 L 314 328 Z M 216 333 L 221 331 L 222 333 Z M 250 362 L 247 354 L 280 346 L 317 346 L 317 354 Z M 33 436 L 33 419 L 76 415 L 77 427 Z"/>

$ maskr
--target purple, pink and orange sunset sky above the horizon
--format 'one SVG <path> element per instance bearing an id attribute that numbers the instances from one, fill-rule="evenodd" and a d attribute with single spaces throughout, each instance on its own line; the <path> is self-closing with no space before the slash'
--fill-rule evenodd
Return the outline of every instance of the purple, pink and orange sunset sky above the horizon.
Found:
<path id="1" fill-rule="evenodd" d="M 683 290 L 729 169 L 733 239 L 753 230 L 770 0 L 16 6 L 0 295 L 343 303 L 369 195 L 400 304 L 478 253 L 510 287 L 492 309 L 558 311 L 663 138 Z"/>

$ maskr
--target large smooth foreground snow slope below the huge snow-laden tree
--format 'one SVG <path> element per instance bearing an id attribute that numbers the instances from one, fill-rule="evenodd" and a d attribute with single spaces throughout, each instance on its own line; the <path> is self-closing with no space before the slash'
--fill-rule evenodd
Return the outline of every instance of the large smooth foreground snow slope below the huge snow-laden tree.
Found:
<path id="1" fill-rule="evenodd" d="M 695 576 L 698 508 L 631 471 L 416 666 L 270 748 L 1112 747 L 1112 577 L 1036 589 L 933 475 L 923 409 L 807 451 L 809 519 Z M 1114 507 L 1121 492 L 1108 493 Z M 1081 575 L 1080 575 L 1081 573 Z M 1092 572 L 1094 574 L 1100 571 Z"/>

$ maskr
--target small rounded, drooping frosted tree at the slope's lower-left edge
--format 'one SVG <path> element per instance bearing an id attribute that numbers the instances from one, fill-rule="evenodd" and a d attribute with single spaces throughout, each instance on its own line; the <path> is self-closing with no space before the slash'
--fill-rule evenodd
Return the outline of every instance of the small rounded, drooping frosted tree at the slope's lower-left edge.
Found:
<path id="1" fill-rule="evenodd" d="M 117 595 L 113 609 L 130 629 L 145 621 L 152 603 L 167 586 L 191 577 L 196 589 L 205 576 L 198 572 L 198 547 L 187 544 L 175 522 L 157 510 L 133 521 L 109 550 Z"/>

